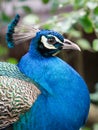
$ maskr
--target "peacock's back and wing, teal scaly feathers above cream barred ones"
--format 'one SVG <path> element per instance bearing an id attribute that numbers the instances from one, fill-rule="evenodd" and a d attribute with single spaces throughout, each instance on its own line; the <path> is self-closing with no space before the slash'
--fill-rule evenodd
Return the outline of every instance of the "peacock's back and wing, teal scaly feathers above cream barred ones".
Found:
<path id="1" fill-rule="evenodd" d="M 16 65 L 0 62 L 0 129 L 17 121 L 39 94 L 36 84 Z"/>

